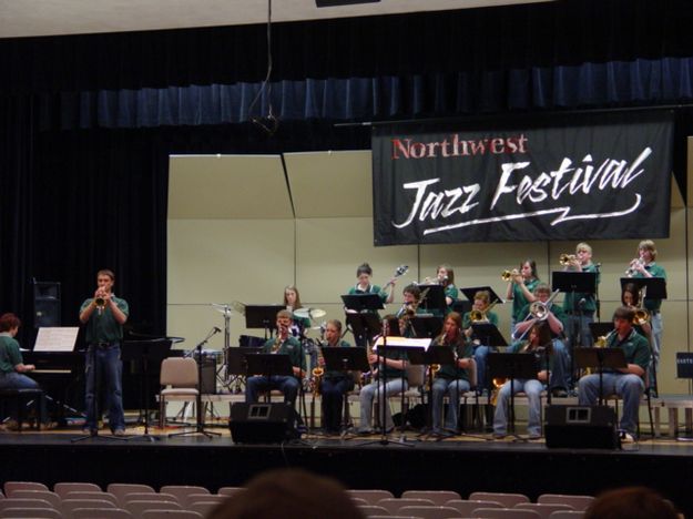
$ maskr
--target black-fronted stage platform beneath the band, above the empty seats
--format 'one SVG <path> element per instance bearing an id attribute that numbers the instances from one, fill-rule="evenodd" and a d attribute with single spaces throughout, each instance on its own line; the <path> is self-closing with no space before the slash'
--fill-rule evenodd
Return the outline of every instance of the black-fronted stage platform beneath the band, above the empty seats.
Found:
<path id="1" fill-rule="evenodd" d="M 166 432 L 174 429 L 169 428 Z M 186 429 L 194 430 L 194 429 Z M 448 489 L 462 498 L 477 490 L 521 492 L 536 500 L 546 492 L 594 495 L 625 485 L 660 490 L 693 517 L 691 474 L 693 444 L 644 439 L 619 450 L 550 449 L 543 440 L 495 440 L 490 435 L 418 440 L 415 431 L 389 437 L 306 435 L 283 444 L 237 445 L 227 428 L 212 439 L 169 438 L 155 429 L 129 428 L 130 439 L 104 437 L 73 442 L 80 430 L 0 434 L 2 480 L 141 482 L 201 485 L 214 491 L 242 486 L 253 475 L 275 467 L 303 467 L 329 475 L 349 488 L 384 488 L 396 496 L 408 489 Z M 105 431 L 108 432 L 108 430 Z"/>

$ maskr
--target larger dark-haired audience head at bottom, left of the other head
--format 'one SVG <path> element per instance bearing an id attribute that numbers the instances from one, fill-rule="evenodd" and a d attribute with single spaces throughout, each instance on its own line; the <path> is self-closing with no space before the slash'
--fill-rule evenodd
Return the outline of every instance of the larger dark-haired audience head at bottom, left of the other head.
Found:
<path id="1" fill-rule="evenodd" d="M 354 519 L 364 515 L 335 479 L 303 469 L 268 470 L 231 496 L 208 519 Z"/>

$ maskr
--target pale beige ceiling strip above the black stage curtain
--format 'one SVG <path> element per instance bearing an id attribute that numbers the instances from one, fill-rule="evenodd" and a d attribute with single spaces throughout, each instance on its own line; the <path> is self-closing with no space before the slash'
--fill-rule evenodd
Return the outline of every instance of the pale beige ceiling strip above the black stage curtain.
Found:
<path id="1" fill-rule="evenodd" d="M 551 0 L 380 0 L 317 8 L 274 0 L 275 22 L 442 11 Z M 267 21 L 263 0 L 0 0 L 0 38 L 238 26 Z"/>

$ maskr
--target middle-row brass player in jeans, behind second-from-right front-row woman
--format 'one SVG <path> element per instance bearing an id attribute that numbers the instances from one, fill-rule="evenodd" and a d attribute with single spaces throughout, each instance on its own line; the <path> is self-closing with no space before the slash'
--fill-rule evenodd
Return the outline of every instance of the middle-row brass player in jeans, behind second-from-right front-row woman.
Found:
<path id="1" fill-rule="evenodd" d="M 551 350 L 551 380 L 549 380 L 549 388 L 551 394 L 556 397 L 567 397 L 568 390 L 572 388 L 571 374 L 570 374 L 570 353 L 565 347 L 565 343 L 562 340 L 564 337 L 564 323 L 565 313 L 559 305 L 554 305 L 551 298 L 551 288 L 546 283 L 539 283 L 534 287 L 534 297 L 538 302 L 546 306 L 546 323 L 551 330 L 552 350 Z M 531 312 L 531 303 L 522 308 L 522 315 L 526 316 L 524 320 L 516 325 L 516 337 L 521 337 L 523 334 L 529 333 L 529 329 L 538 320 L 538 316 Z"/>

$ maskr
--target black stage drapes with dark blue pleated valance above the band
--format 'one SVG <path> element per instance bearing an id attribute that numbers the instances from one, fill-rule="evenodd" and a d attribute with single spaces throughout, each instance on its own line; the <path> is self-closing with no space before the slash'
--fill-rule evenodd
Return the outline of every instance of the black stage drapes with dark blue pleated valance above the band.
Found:
<path id="1" fill-rule="evenodd" d="M 170 153 L 366 149 L 335 122 L 646 108 L 693 96 L 687 0 L 582 0 L 273 26 L 0 40 L 0 312 L 30 279 L 63 323 L 108 266 L 133 324 L 165 329 Z M 268 135 L 247 123 L 267 115 Z M 569 116 L 569 115 L 567 115 Z M 677 110 L 685 193 L 691 112 Z"/>

